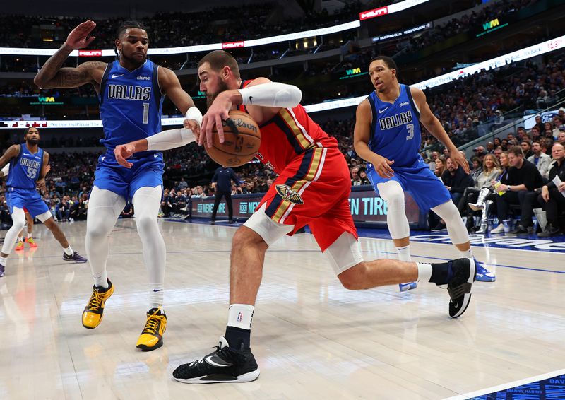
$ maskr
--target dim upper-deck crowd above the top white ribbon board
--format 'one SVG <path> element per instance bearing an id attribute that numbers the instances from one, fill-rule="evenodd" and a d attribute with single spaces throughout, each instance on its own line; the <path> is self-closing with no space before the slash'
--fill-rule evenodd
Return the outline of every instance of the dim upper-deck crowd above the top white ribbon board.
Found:
<path id="1" fill-rule="evenodd" d="M 307 12 L 302 18 L 285 18 L 283 6 L 266 2 L 221 6 L 192 13 L 156 13 L 141 18 L 140 22 L 148 28 L 152 47 L 180 47 L 251 40 L 272 36 L 273 32 L 284 35 L 337 25 L 359 18 L 363 9 L 360 1 L 352 1 L 335 13 Z M 83 18 L 77 17 L 1 16 L 0 47 L 58 48 L 66 35 L 81 22 Z M 112 49 L 121 19 L 99 18 L 95 22 L 96 48 Z"/>

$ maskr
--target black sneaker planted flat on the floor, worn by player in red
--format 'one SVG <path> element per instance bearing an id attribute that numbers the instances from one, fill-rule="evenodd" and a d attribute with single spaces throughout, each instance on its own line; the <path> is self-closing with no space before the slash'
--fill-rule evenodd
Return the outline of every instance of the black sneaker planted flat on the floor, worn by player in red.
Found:
<path id="1" fill-rule="evenodd" d="M 259 367 L 251 349 L 230 348 L 225 337 L 220 336 L 220 343 L 213 353 L 179 365 L 172 376 L 179 382 L 191 384 L 251 382 L 259 376 Z"/>

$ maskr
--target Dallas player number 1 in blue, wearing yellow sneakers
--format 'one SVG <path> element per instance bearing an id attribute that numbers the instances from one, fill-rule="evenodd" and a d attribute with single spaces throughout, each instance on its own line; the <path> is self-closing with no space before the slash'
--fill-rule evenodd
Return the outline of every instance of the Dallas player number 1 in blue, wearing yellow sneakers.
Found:
<path id="1" fill-rule="evenodd" d="M 136 347 L 143 351 L 162 346 L 167 317 L 162 307 L 165 281 L 165 242 L 157 225 L 162 196 L 162 153 L 148 151 L 131 158 L 131 168 L 121 167 L 114 157 L 120 144 L 148 139 L 161 130 L 162 101 L 169 96 L 184 114 L 189 125 L 198 129 L 201 112 L 181 88 L 169 69 L 147 59 L 147 30 L 136 21 L 122 23 L 117 31 L 119 59 L 106 64 L 88 61 L 76 68 L 61 68 L 75 49 L 90 45 L 89 36 L 96 24 L 87 20 L 78 25 L 64 45 L 47 60 L 35 77 L 42 88 L 76 88 L 90 83 L 100 100 L 104 130 L 101 142 L 107 152 L 100 156 L 93 190 L 88 201 L 86 252 L 93 271 L 93 294 L 83 312 L 83 326 L 93 329 L 102 321 L 106 300 L 114 293 L 107 278 L 108 235 L 116 224 L 126 201 L 136 210 L 136 225 L 143 245 L 143 259 L 149 274 L 149 311 L 145 328 Z"/>

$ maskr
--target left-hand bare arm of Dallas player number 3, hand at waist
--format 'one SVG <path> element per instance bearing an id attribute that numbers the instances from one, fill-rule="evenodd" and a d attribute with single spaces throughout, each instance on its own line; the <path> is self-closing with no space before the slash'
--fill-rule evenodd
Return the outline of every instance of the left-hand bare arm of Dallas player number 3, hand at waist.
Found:
<path id="1" fill-rule="evenodd" d="M 394 170 L 391 168 L 394 160 L 388 160 L 382 155 L 376 154 L 369 148 L 369 141 L 371 140 L 371 105 L 369 100 L 363 100 L 357 106 L 355 112 L 355 129 L 353 130 L 353 148 L 355 152 L 364 160 L 373 164 L 376 173 L 383 178 L 392 177 Z"/>

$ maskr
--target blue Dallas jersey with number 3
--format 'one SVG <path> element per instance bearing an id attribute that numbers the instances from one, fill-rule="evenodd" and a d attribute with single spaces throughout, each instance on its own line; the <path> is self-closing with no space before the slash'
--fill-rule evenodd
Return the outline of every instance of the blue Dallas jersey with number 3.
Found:
<path id="1" fill-rule="evenodd" d="M 420 112 L 410 87 L 400 84 L 400 95 L 393 102 L 383 102 L 371 93 L 369 104 L 373 119 L 369 148 L 388 160 L 394 160 L 393 170 L 413 168 L 422 161 L 420 156 Z"/>

